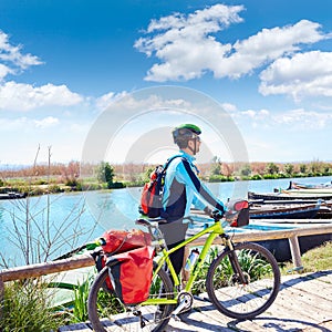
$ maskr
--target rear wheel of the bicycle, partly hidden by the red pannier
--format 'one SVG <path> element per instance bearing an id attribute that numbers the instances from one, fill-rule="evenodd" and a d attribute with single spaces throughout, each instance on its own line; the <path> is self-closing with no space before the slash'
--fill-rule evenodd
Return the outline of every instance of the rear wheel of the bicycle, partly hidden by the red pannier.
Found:
<path id="1" fill-rule="evenodd" d="M 155 269 L 156 264 L 154 263 L 154 270 Z M 104 267 L 96 276 L 89 292 L 87 312 L 94 331 L 104 332 L 139 330 L 157 332 L 162 331 L 168 324 L 170 313 L 175 307 L 174 304 L 139 305 L 139 310 L 143 312 L 143 315 L 146 319 L 146 326 L 141 330 L 139 319 L 138 317 L 134 315 L 133 307 L 124 305 L 114 292 L 106 289 L 105 279 L 107 276 L 108 268 Z M 163 290 L 163 293 L 160 293 L 160 289 Z M 158 271 L 153 280 L 151 288 L 151 298 L 152 297 L 167 297 L 168 299 L 174 298 L 173 283 L 168 274 L 163 269 Z M 105 303 L 103 303 L 105 298 L 108 298 L 112 303 L 116 302 L 118 304 L 118 307 L 115 308 L 115 312 L 113 312 L 114 310 L 111 311 L 110 309 L 105 308 Z M 108 303 L 106 303 L 106 307 Z M 120 310 L 123 312 L 118 313 Z M 156 314 L 158 314 L 158 317 Z"/>

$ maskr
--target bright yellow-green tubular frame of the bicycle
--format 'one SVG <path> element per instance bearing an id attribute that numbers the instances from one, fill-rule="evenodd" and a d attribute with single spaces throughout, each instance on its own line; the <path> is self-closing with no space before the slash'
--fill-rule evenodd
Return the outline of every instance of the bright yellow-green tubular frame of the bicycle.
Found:
<path id="1" fill-rule="evenodd" d="M 164 248 L 162 250 L 160 257 L 158 257 L 157 268 L 154 271 L 154 277 L 163 268 L 163 266 L 166 262 L 166 264 L 168 267 L 168 270 L 170 272 L 170 276 L 173 278 L 173 283 L 175 286 L 175 292 L 177 292 L 177 289 L 178 289 L 177 287 L 179 286 L 180 282 L 179 282 L 178 276 L 175 273 L 174 267 L 173 267 L 172 261 L 169 259 L 169 255 L 173 253 L 174 251 L 187 246 L 188 243 L 193 242 L 194 240 L 205 236 L 206 234 L 209 234 L 209 236 L 205 241 L 205 245 L 201 249 L 201 252 L 199 253 L 197 262 L 194 264 L 194 267 L 191 267 L 191 273 L 190 273 L 189 280 L 187 281 L 186 287 L 184 289 L 187 292 L 190 291 L 190 289 L 193 287 L 193 283 L 197 278 L 198 271 L 200 270 L 200 268 L 204 263 L 204 260 L 205 260 L 210 247 L 214 243 L 214 240 L 216 239 L 216 237 L 225 234 L 224 227 L 222 227 L 220 221 L 216 221 L 214 225 L 203 229 L 198 234 L 189 237 L 188 239 L 186 239 L 185 241 L 183 241 L 181 243 L 179 243 L 178 246 L 176 246 L 176 247 L 174 247 L 169 250 L 166 250 Z M 175 297 L 174 299 L 166 299 L 166 298 L 163 298 L 163 299 L 148 299 L 145 302 L 143 302 L 142 305 L 148 305 L 148 304 L 176 304 L 176 303 L 177 303 L 177 297 Z"/>

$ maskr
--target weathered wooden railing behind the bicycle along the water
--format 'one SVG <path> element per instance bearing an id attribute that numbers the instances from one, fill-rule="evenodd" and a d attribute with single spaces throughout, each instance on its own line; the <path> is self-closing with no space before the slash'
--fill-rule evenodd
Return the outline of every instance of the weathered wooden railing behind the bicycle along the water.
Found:
<path id="1" fill-rule="evenodd" d="M 303 227 L 287 230 L 271 230 L 271 231 L 260 231 L 260 232 L 242 232 L 235 234 L 232 240 L 235 242 L 242 241 L 262 241 L 262 240 L 276 240 L 276 239 L 289 239 L 290 249 L 292 255 L 292 261 L 295 268 L 302 266 L 301 263 L 301 251 L 298 238 L 302 236 L 312 235 L 323 235 L 332 234 L 332 225 L 317 225 L 312 227 Z M 217 238 L 216 245 L 221 243 Z M 204 245 L 204 238 L 198 239 L 190 243 L 191 246 Z M 0 297 L 3 292 L 4 282 L 21 280 L 27 278 L 41 277 L 54 272 L 62 272 L 74 270 L 79 268 L 90 267 L 94 264 L 94 260 L 90 255 L 81 255 L 68 259 L 62 259 L 58 261 L 44 262 L 30 264 L 24 267 L 17 267 L 11 269 L 6 269 L 0 271 Z"/>

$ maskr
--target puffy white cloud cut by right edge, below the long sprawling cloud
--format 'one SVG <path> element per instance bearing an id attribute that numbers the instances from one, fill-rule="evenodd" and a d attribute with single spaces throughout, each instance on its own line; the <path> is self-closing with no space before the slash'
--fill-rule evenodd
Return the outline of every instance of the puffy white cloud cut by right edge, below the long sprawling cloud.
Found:
<path id="1" fill-rule="evenodd" d="M 312 51 L 274 61 L 261 75 L 260 93 L 332 96 L 332 53 Z"/>

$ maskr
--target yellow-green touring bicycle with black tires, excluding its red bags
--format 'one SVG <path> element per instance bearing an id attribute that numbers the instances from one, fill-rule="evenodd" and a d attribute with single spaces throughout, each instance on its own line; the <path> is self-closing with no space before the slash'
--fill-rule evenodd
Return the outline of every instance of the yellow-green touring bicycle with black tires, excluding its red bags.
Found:
<path id="1" fill-rule="evenodd" d="M 239 210 L 236 212 L 238 214 Z M 151 295 L 138 305 L 120 304 L 125 312 L 121 315 L 114 317 L 113 313 L 106 313 L 108 302 L 105 301 L 107 290 L 105 290 L 104 282 L 108 276 L 108 268 L 104 267 L 91 287 L 87 301 L 89 317 L 94 330 L 97 332 L 110 331 L 105 330 L 102 323 L 102 319 L 106 315 L 117 328 L 125 329 L 127 326 L 129 331 L 133 331 L 133 324 L 138 324 L 138 329 L 143 331 L 162 331 L 172 317 L 188 311 L 193 305 L 193 284 L 217 237 L 221 238 L 224 250 L 208 268 L 206 290 L 210 301 L 222 314 L 237 320 L 253 319 L 264 312 L 273 303 L 279 292 L 280 270 L 278 263 L 273 255 L 260 245 L 234 243 L 230 236 L 225 232 L 226 221 L 225 218 L 221 219 L 222 217 L 220 214 L 216 214 L 211 226 L 205 227 L 169 250 L 158 229 L 158 225 L 165 220 L 136 220 L 136 225 L 147 227 L 155 245 L 156 259 Z M 181 288 L 169 255 L 206 235 L 208 237 L 198 260 L 190 269 L 187 283 Z M 165 271 L 165 267 L 168 272 Z"/>

